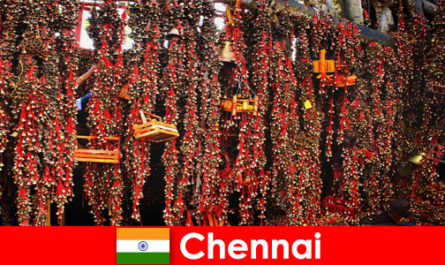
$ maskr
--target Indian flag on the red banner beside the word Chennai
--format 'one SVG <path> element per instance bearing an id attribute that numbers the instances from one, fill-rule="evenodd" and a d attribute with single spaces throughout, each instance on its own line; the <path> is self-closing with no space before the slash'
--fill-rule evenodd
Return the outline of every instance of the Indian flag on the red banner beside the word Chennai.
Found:
<path id="1" fill-rule="evenodd" d="M 170 264 L 169 228 L 117 228 L 117 264 Z"/>

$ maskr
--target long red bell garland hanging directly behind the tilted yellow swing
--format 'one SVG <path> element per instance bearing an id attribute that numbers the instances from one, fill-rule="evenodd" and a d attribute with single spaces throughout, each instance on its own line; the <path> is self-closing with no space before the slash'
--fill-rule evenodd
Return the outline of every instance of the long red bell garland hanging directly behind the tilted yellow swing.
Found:
<path id="1" fill-rule="evenodd" d="M 141 221 L 139 205 L 144 197 L 143 186 L 150 174 L 150 144 L 135 138 L 133 126 L 142 123 L 141 111 L 152 113 L 156 107 L 161 34 L 159 8 L 156 1 L 137 2 L 130 8 L 128 21 L 135 44 L 127 67 L 131 106 L 126 119 L 123 155 L 124 175 L 132 190 L 131 217 L 138 221 Z"/>

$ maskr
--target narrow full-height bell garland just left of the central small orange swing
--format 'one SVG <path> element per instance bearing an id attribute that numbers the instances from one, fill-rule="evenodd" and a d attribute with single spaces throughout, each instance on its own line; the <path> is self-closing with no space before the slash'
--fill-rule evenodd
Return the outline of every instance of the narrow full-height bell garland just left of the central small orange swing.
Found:
<path id="1" fill-rule="evenodd" d="M 187 225 L 193 225 L 192 213 L 197 209 L 199 213 L 205 213 L 206 209 L 220 204 L 219 185 L 221 175 L 219 168 L 221 159 L 221 131 L 220 120 L 220 98 L 221 86 L 218 74 L 221 62 L 216 53 L 217 36 L 212 5 L 205 5 L 203 9 L 203 24 L 198 39 L 198 56 L 201 59 L 200 68 L 203 75 L 199 83 L 201 101 L 199 108 L 201 152 L 197 157 L 196 178 L 191 179 L 192 184 L 192 209 L 187 214 Z M 198 212 L 197 211 L 197 212 Z M 203 215 L 197 215 L 202 222 Z"/>

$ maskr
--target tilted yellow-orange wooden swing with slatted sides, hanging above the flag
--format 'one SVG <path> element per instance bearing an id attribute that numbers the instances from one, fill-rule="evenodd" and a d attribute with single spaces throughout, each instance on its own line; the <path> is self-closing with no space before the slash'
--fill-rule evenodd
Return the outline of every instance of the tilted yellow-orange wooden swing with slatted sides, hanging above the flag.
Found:
<path id="1" fill-rule="evenodd" d="M 178 130 L 173 124 L 162 122 L 162 118 L 146 111 L 140 111 L 142 124 L 133 125 L 136 139 L 147 142 L 165 142 L 179 137 Z M 145 115 L 150 116 L 147 121 Z"/>

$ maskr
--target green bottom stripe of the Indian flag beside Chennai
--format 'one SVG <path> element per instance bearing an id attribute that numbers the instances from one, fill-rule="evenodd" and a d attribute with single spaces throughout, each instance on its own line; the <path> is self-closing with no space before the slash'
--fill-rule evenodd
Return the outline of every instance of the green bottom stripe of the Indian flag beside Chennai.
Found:
<path id="1" fill-rule="evenodd" d="M 118 252 L 117 264 L 170 264 L 168 252 Z"/>

